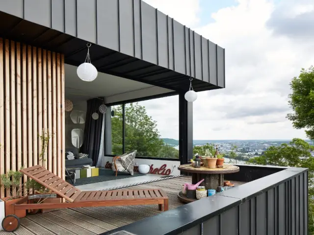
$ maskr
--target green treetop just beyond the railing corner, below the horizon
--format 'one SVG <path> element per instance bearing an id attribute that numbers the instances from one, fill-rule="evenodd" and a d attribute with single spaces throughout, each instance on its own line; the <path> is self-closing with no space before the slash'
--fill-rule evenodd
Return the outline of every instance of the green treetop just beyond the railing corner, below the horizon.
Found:
<path id="1" fill-rule="evenodd" d="M 270 146 L 264 154 L 252 158 L 248 164 L 279 165 L 309 168 L 309 231 L 314 233 L 314 146 L 301 139 L 293 139 L 280 146 Z"/>

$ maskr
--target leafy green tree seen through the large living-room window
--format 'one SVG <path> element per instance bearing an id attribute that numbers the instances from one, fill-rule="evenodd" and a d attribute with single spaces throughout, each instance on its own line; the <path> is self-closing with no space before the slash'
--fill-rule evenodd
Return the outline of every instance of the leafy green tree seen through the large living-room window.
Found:
<path id="1" fill-rule="evenodd" d="M 115 106 L 111 118 L 112 154 L 122 154 L 122 105 Z M 179 150 L 160 139 L 157 123 L 147 115 L 144 106 L 130 103 L 125 106 L 125 150 L 136 149 L 137 156 L 179 158 Z"/>

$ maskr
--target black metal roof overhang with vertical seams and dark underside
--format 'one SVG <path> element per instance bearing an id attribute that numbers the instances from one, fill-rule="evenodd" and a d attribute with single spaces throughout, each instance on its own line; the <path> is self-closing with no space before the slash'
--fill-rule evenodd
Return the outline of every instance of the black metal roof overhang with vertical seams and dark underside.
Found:
<path id="1" fill-rule="evenodd" d="M 225 87 L 225 50 L 141 0 L 0 0 L 0 36 L 175 91 Z"/>

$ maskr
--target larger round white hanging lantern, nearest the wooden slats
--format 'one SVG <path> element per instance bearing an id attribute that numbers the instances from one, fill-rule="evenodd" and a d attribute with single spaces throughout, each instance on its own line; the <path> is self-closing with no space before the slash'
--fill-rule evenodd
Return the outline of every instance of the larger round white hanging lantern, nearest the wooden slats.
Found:
<path id="1" fill-rule="evenodd" d="M 77 69 L 78 77 L 86 82 L 94 81 L 98 75 L 98 71 L 90 62 L 89 56 L 89 47 L 91 46 L 90 43 L 87 44 L 87 55 L 85 62 L 80 64 Z"/>

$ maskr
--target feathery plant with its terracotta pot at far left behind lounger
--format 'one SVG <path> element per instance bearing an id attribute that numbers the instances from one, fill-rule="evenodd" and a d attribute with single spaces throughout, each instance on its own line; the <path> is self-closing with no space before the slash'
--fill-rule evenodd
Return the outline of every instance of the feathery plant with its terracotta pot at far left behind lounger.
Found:
<path id="1" fill-rule="evenodd" d="M 4 210 L 5 215 L 15 214 L 16 216 L 23 218 L 26 216 L 26 210 L 18 210 L 15 211 L 14 204 L 18 203 L 23 197 L 22 193 L 22 184 L 21 178 L 23 173 L 20 171 L 10 170 L 7 174 L 2 174 L 1 178 L 1 186 L 7 189 L 9 195 L 7 197 L 1 198 L 4 202 Z M 16 191 L 16 193 L 12 194 L 12 191 Z"/>

